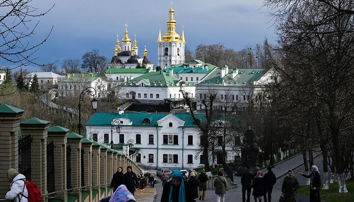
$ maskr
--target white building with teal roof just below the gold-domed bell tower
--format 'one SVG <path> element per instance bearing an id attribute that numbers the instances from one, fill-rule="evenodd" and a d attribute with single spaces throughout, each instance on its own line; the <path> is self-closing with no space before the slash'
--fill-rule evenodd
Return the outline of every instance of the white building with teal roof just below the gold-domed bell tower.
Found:
<path id="1" fill-rule="evenodd" d="M 164 71 L 170 72 L 170 70 L 173 70 L 173 76 L 189 84 L 196 85 L 214 68 L 216 68 L 215 65 L 193 59 L 187 63 L 172 64 L 170 68 L 166 68 Z"/>

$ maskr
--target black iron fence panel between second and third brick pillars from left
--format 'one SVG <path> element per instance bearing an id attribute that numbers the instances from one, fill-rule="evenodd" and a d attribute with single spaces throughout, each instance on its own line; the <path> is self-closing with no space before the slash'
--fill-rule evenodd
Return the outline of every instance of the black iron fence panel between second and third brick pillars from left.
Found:
<path id="1" fill-rule="evenodd" d="M 55 192 L 54 142 L 47 144 L 47 190 Z"/>

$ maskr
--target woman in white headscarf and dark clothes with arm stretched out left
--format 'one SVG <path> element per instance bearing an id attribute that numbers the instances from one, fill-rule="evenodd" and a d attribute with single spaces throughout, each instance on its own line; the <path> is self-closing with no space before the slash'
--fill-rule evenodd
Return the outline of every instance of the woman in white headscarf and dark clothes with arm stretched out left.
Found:
<path id="1" fill-rule="evenodd" d="M 312 173 L 306 175 L 304 173 L 299 173 L 300 175 L 310 178 L 310 202 L 321 202 L 320 199 L 320 186 L 321 186 L 321 176 L 318 172 L 317 166 L 313 165 L 311 168 Z"/>

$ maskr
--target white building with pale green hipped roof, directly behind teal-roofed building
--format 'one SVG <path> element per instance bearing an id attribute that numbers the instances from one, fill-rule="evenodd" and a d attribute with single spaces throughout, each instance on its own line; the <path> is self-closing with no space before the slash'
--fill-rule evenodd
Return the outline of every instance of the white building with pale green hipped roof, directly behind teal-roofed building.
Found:
<path id="1" fill-rule="evenodd" d="M 184 82 L 172 74 L 156 71 L 148 72 L 121 84 L 126 99 L 137 100 L 143 104 L 160 105 L 183 98 L 184 90 L 195 96 L 194 85 Z"/>

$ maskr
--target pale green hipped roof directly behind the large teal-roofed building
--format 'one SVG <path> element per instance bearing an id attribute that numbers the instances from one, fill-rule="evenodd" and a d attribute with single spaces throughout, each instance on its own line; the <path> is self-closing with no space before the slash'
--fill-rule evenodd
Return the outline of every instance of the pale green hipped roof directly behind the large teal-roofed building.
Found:
<path id="1" fill-rule="evenodd" d="M 141 80 L 144 80 L 147 83 L 149 83 L 148 87 L 179 87 L 179 83 L 183 82 L 182 80 L 177 79 L 172 75 L 170 76 L 169 73 L 163 71 L 156 71 L 156 72 L 148 72 L 144 75 L 132 79 L 131 81 L 123 82 L 121 85 L 135 87 L 137 83 Z M 186 86 L 191 86 L 187 82 L 184 83 Z"/>

